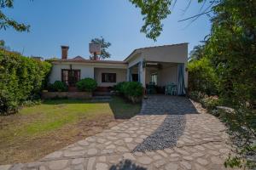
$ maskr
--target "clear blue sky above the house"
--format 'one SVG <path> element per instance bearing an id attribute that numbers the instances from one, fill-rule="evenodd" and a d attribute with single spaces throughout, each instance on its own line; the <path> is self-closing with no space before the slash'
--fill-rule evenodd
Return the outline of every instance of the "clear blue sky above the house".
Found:
<path id="1" fill-rule="evenodd" d="M 111 59 L 125 59 L 135 48 L 189 42 L 189 51 L 210 33 L 210 22 L 203 16 L 188 26 L 177 22 L 198 14 L 201 4 L 178 1 L 172 14 L 163 21 L 164 30 L 157 42 L 140 32 L 143 16 L 128 0 L 25 0 L 15 1 L 15 8 L 3 12 L 15 20 L 31 25 L 30 32 L 13 29 L 0 31 L 0 39 L 24 55 L 52 58 L 61 56 L 61 45 L 68 45 L 69 56 L 88 58 L 88 43 L 104 37 L 112 46 Z"/>

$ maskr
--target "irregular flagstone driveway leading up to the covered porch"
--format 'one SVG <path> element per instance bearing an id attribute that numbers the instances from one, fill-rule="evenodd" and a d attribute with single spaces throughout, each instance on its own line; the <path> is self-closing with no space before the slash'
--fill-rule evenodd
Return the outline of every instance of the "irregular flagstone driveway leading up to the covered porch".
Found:
<path id="1" fill-rule="evenodd" d="M 157 105 L 160 102 L 165 104 Z M 151 114 L 149 108 L 153 110 Z M 200 106 L 196 108 L 200 114 L 183 97 L 150 96 L 143 101 L 141 114 L 126 122 L 57 150 L 40 161 L 0 166 L 0 170 L 224 169 L 224 159 L 230 151 L 225 127 L 218 118 L 203 113 Z M 168 123 L 177 119 L 181 123 L 175 127 Z M 179 126 L 179 132 L 175 133 L 172 128 Z M 165 140 L 166 136 L 175 137 Z"/>

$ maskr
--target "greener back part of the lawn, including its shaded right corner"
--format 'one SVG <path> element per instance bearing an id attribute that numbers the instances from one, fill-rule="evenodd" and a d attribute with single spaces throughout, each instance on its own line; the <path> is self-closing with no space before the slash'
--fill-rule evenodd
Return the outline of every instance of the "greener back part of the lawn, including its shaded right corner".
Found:
<path id="1" fill-rule="evenodd" d="M 41 105 L 23 108 L 19 113 L 22 122 L 0 130 L 0 137 L 13 139 L 15 136 L 40 135 L 79 122 L 81 119 L 90 121 L 99 116 L 130 118 L 136 115 L 139 109 L 140 105 L 126 103 L 119 97 L 113 97 L 109 103 L 91 103 L 76 99 L 47 100 Z"/>

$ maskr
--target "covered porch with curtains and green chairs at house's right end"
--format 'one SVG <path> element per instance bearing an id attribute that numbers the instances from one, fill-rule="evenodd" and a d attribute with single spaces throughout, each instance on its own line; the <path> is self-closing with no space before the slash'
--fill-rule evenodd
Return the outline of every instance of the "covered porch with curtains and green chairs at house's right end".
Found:
<path id="1" fill-rule="evenodd" d="M 128 81 L 141 82 L 146 94 L 185 94 L 184 63 L 143 60 L 129 67 L 127 73 Z"/>

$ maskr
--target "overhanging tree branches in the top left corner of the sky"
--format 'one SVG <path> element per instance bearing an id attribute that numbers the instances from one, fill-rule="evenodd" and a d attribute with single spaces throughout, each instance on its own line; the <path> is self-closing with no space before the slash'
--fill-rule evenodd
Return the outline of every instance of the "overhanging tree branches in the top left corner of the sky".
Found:
<path id="1" fill-rule="evenodd" d="M 15 31 L 29 31 L 30 26 L 19 23 L 3 14 L 3 8 L 14 8 L 14 0 L 0 0 L 0 30 L 6 30 L 9 27 Z"/>

